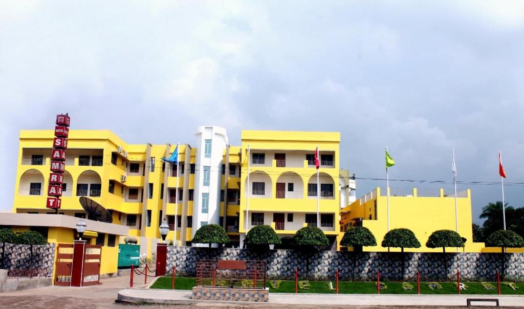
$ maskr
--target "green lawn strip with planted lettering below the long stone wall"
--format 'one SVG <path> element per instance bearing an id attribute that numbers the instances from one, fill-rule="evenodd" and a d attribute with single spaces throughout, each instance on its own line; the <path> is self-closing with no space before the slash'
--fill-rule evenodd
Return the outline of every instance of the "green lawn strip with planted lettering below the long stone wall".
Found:
<path id="1" fill-rule="evenodd" d="M 299 293 L 322 293 L 322 294 L 334 294 L 335 290 L 330 290 L 330 281 L 309 281 L 310 288 L 308 290 L 298 290 Z M 335 288 L 335 281 L 333 288 Z M 384 281 L 387 286 L 386 290 L 380 291 L 380 294 L 417 294 L 417 282 L 410 282 L 413 285 L 413 290 L 406 291 L 402 289 L 402 282 L 388 282 Z M 454 282 L 439 282 L 442 286 L 441 290 L 431 290 L 425 282 L 420 283 L 420 294 L 457 294 L 457 288 Z M 494 291 L 488 291 L 484 289 L 480 282 L 464 282 L 467 286 L 467 290 L 462 290 L 462 294 L 485 294 L 485 295 L 496 295 L 497 294 L 497 283 L 490 282 L 495 286 Z M 500 284 L 500 291 L 503 295 L 522 295 L 524 294 L 524 283 L 515 284 L 518 289 L 512 290 L 509 286 Z M 183 278 L 177 277 L 175 279 L 175 290 L 191 290 L 195 286 L 195 278 Z M 270 293 L 294 293 L 294 281 L 281 281 L 278 289 L 271 287 L 269 280 L 267 285 Z M 151 286 L 151 289 L 171 289 L 171 277 L 160 277 Z M 377 287 L 375 282 L 361 282 L 361 281 L 339 281 L 339 293 L 340 294 L 376 294 Z"/>

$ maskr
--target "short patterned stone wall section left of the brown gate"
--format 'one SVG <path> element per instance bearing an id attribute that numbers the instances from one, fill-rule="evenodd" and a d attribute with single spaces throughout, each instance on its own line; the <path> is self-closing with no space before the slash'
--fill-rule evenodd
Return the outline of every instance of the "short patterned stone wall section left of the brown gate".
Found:
<path id="1" fill-rule="evenodd" d="M 49 245 L 14 245 L 0 242 L 0 250 L 4 250 L 4 254 L 0 267 L 3 269 L 28 269 L 28 268 L 44 268 L 49 269 L 49 275 L 52 274 L 54 263 L 54 248 L 55 244 Z"/>

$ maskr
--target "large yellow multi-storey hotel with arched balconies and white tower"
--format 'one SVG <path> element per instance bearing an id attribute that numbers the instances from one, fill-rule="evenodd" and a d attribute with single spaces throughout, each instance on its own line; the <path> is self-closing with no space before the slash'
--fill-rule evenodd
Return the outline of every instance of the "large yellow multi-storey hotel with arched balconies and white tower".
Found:
<path id="1" fill-rule="evenodd" d="M 54 213 L 46 208 L 53 135 L 53 130 L 20 132 L 13 212 Z M 85 217 L 79 197 L 88 196 L 112 213 L 114 224 L 128 227 L 127 236 L 136 237 L 148 255 L 155 251 L 163 219 L 170 226 L 167 239 L 182 246 L 192 245 L 194 231 L 212 223 L 226 229 L 231 246 L 241 245 L 246 213 L 249 226 L 271 224 L 281 236 L 316 225 L 312 156 L 317 146 L 319 226 L 332 239 L 339 235 L 340 205 L 351 202 L 354 193 L 354 181 L 339 167 L 339 133 L 243 131 L 242 145 L 230 146 L 225 129 L 203 126 L 194 147 L 177 148 L 127 144 L 107 130 L 71 129 L 68 140 L 59 214 Z M 251 163 L 241 167 L 248 147 Z M 178 165 L 161 160 L 175 149 Z M 249 197 L 247 187 L 241 190 L 247 165 Z"/>

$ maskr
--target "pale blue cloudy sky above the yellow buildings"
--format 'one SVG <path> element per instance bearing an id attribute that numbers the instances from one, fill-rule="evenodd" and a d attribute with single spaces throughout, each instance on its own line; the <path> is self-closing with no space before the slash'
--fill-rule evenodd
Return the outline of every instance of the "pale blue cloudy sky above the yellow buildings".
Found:
<path id="1" fill-rule="evenodd" d="M 358 178 L 524 183 L 524 2 L 0 1 L 0 211 L 22 129 L 110 129 L 129 143 L 196 128 L 341 132 Z M 358 180 L 357 196 L 380 180 Z M 391 182 L 390 187 L 452 184 Z M 501 199 L 471 188 L 473 219 Z M 524 205 L 524 186 L 505 187 Z"/>

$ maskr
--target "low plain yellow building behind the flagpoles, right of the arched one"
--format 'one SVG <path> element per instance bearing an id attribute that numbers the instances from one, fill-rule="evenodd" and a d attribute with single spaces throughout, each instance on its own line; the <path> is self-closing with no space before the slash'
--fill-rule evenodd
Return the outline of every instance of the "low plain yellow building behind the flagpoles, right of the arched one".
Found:
<path id="1" fill-rule="evenodd" d="M 442 248 L 425 247 L 429 236 L 439 229 L 456 229 L 454 191 L 447 189 L 395 189 L 389 188 L 389 228 L 409 228 L 420 241 L 421 247 L 406 248 L 408 252 L 442 252 Z M 377 187 L 341 210 L 341 230 L 362 225 L 372 231 L 377 240 L 374 247 L 364 251 L 387 251 L 380 246 L 388 229 L 386 189 Z M 486 248 L 483 242 L 473 242 L 471 191 L 457 191 L 459 234 L 466 238 L 460 251 L 498 252 L 499 248 Z M 400 248 L 390 248 L 400 251 Z M 519 249 L 509 249 L 508 252 Z"/>

